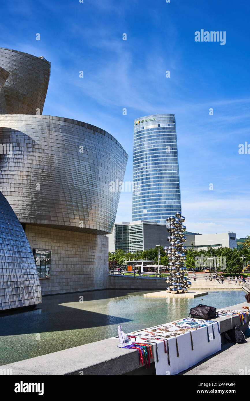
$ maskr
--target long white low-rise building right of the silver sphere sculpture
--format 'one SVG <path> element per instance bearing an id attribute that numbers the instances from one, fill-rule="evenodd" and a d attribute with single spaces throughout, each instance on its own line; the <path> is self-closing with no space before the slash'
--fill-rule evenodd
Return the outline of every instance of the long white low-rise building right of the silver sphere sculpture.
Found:
<path id="1" fill-rule="evenodd" d="M 185 246 L 187 249 L 194 248 L 207 250 L 208 247 L 219 248 L 228 247 L 237 248 L 235 233 L 218 233 L 218 234 L 186 234 L 187 241 Z"/>

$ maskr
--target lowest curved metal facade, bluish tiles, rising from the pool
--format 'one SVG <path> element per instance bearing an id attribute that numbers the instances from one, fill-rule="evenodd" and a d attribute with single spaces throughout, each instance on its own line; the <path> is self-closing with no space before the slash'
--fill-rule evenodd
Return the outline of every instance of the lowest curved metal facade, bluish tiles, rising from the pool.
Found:
<path id="1" fill-rule="evenodd" d="M 20 222 L 0 192 L 0 310 L 41 302 L 33 253 Z"/>

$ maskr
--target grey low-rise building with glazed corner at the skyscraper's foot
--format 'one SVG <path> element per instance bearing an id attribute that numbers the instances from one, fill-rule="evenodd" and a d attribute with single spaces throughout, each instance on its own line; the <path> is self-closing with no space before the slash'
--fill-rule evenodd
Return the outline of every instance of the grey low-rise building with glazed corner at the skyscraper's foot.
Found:
<path id="1" fill-rule="evenodd" d="M 122 221 L 115 223 L 112 234 L 108 235 L 109 252 L 122 249 L 124 252 L 144 251 L 155 245 L 167 245 L 167 227 L 156 221 Z"/>

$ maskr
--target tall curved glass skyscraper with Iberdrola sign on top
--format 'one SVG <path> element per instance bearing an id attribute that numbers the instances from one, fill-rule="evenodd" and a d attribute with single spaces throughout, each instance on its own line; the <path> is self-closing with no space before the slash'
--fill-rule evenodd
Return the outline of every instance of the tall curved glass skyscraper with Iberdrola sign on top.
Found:
<path id="1" fill-rule="evenodd" d="M 133 183 L 132 221 L 165 224 L 181 212 L 174 114 L 134 120 Z"/>

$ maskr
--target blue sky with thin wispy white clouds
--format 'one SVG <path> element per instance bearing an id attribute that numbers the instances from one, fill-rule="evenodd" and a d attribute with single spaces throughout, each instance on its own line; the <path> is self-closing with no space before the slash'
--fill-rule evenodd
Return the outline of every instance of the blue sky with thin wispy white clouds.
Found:
<path id="1" fill-rule="evenodd" d="M 175 113 L 187 229 L 239 238 L 250 234 L 250 154 L 238 153 L 250 144 L 249 12 L 248 2 L 226 0 L 2 0 L 0 46 L 51 62 L 43 114 L 110 132 L 129 154 L 126 181 L 133 120 Z M 201 29 L 226 31 L 226 44 L 195 42 Z M 132 220 L 128 192 L 121 220 Z"/>

